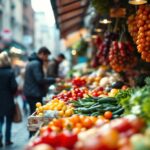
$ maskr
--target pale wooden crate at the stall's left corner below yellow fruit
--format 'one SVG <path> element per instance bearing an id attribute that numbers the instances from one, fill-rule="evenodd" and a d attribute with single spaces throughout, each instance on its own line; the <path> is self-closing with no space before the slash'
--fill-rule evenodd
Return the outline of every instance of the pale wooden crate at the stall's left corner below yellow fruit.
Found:
<path id="1" fill-rule="evenodd" d="M 53 118 L 36 116 L 36 112 L 28 117 L 27 128 L 29 131 L 37 131 L 43 124 L 48 124 Z"/>

